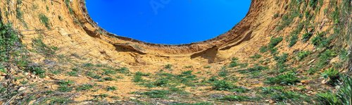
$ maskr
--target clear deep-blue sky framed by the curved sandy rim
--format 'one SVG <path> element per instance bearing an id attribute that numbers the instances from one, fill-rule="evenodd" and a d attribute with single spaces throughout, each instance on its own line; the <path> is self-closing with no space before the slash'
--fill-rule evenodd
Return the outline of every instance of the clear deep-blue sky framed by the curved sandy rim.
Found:
<path id="1" fill-rule="evenodd" d="M 86 0 L 89 16 L 118 36 L 156 44 L 217 37 L 246 16 L 251 0 Z"/>

